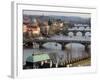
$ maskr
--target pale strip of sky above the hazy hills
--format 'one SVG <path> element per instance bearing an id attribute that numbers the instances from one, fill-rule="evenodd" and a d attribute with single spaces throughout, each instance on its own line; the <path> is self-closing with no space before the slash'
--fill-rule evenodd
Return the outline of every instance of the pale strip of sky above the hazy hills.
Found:
<path id="1" fill-rule="evenodd" d="M 44 16 L 74 16 L 74 17 L 81 17 L 81 18 L 90 18 L 91 14 L 89 13 L 75 13 L 75 12 L 47 12 L 47 11 L 31 11 L 31 10 L 24 10 L 24 15 L 44 15 Z"/>

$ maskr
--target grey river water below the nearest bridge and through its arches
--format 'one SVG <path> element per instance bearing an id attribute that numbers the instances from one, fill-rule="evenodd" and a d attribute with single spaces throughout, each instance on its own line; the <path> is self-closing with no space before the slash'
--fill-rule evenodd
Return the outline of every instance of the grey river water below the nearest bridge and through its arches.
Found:
<path id="1" fill-rule="evenodd" d="M 66 45 L 66 50 L 61 50 L 61 45 L 55 42 L 48 42 L 43 45 L 44 49 L 24 49 L 23 64 L 28 56 L 32 54 L 47 53 L 53 60 L 53 63 L 63 62 L 75 58 L 83 58 L 88 56 L 85 52 L 85 46 L 79 43 L 69 43 Z"/>

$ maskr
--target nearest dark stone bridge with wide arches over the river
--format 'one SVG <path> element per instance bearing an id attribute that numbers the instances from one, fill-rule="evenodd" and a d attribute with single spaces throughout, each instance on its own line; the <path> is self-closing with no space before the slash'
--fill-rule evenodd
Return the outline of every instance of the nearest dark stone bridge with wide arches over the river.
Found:
<path id="1" fill-rule="evenodd" d="M 85 49 L 87 49 L 88 45 L 91 44 L 90 40 L 64 40 L 64 39 L 59 39 L 59 40 L 54 40 L 54 39 L 33 39 L 31 41 L 26 41 L 26 42 L 35 42 L 37 44 L 39 44 L 39 49 L 43 48 L 43 44 L 47 43 L 47 42 L 55 42 L 55 43 L 59 43 L 62 46 L 62 50 L 65 49 L 65 45 L 67 45 L 68 43 L 80 43 L 82 45 L 85 46 Z"/>

